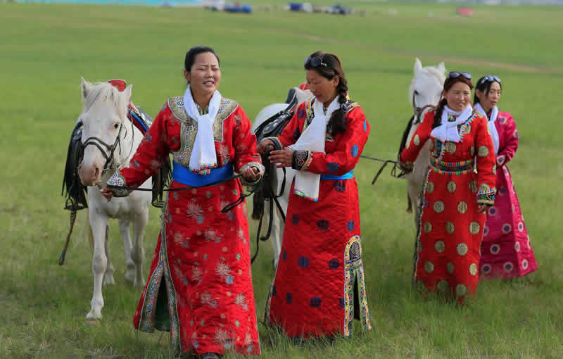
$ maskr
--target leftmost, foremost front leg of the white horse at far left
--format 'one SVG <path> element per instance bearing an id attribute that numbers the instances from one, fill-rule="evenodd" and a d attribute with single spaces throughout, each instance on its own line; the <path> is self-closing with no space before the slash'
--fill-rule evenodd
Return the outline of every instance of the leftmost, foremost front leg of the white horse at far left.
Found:
<path id="1" fill-rule="evenodd" d="M 103 274 L 106 272 L 107 258 L 104 241 L 106 237 L 106 227 L 108 218 L 94 213 L 90 209 L 90 226 L 94 234 L 94 256 L 92 256 L 92 272 L 94 273 L 94 294 L 90 301 L 90 311 L 86 315 L 86 320 L 97 320 L 101 318 L 101 308 L 103 308 L 103 296 L 101 286 Z"/>

